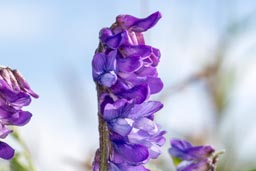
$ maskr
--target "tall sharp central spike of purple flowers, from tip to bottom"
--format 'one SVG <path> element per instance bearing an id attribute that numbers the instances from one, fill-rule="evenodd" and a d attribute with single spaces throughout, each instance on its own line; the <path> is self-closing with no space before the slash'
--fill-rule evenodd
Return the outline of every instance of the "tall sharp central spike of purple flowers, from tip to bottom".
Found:
<path id="1" fill-rule="evenodd" d="M 165 131 L 154 122 L 163 105 L 148 100 L 163 88 L 156 70 L 160 52 L 143 37 L 160 18 L 159 12 L 143 19 L 119 15 L 110 28 L 100 31 L 92 66 L 99 117 L 107 125 L 108 171 L 147 171 L 143 164 L 157 158 L 165 143 Z M 99 149 L 95 155 L 94 171 L 104 170 L 102 153 Z"/>

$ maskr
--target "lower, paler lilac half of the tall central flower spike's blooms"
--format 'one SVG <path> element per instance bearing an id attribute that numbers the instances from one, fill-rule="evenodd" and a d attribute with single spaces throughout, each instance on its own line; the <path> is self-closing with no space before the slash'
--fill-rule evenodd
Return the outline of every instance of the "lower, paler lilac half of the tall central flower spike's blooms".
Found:
<path id="1" fill-rule="evenodd" d="M 161 131 L 152 118 L 163 107 L 160 102 L 114 101 L 108 94 L 103 94 L 101 104 L 102 117 L 111 135 L 112 163 L 145 164 L 159 156 L 160 147 L 165 143 L 165 131 Z"/>

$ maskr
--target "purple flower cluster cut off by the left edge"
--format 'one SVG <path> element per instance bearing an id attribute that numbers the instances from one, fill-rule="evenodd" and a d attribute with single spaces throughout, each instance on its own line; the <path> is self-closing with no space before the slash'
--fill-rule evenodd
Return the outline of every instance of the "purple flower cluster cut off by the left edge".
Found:
<path id="1" fill-rule="evenodd" d="M 17 70 L 0 66 L 0 138 L 4 139 L 12 132 L 8 125 L 23 126 L 32 116 L 22 107 L 31 102 L 31 97 L 38 98 L 28 83 Z M 11 159 L 14 150 L 0 141 L 0 158 Z"/>

